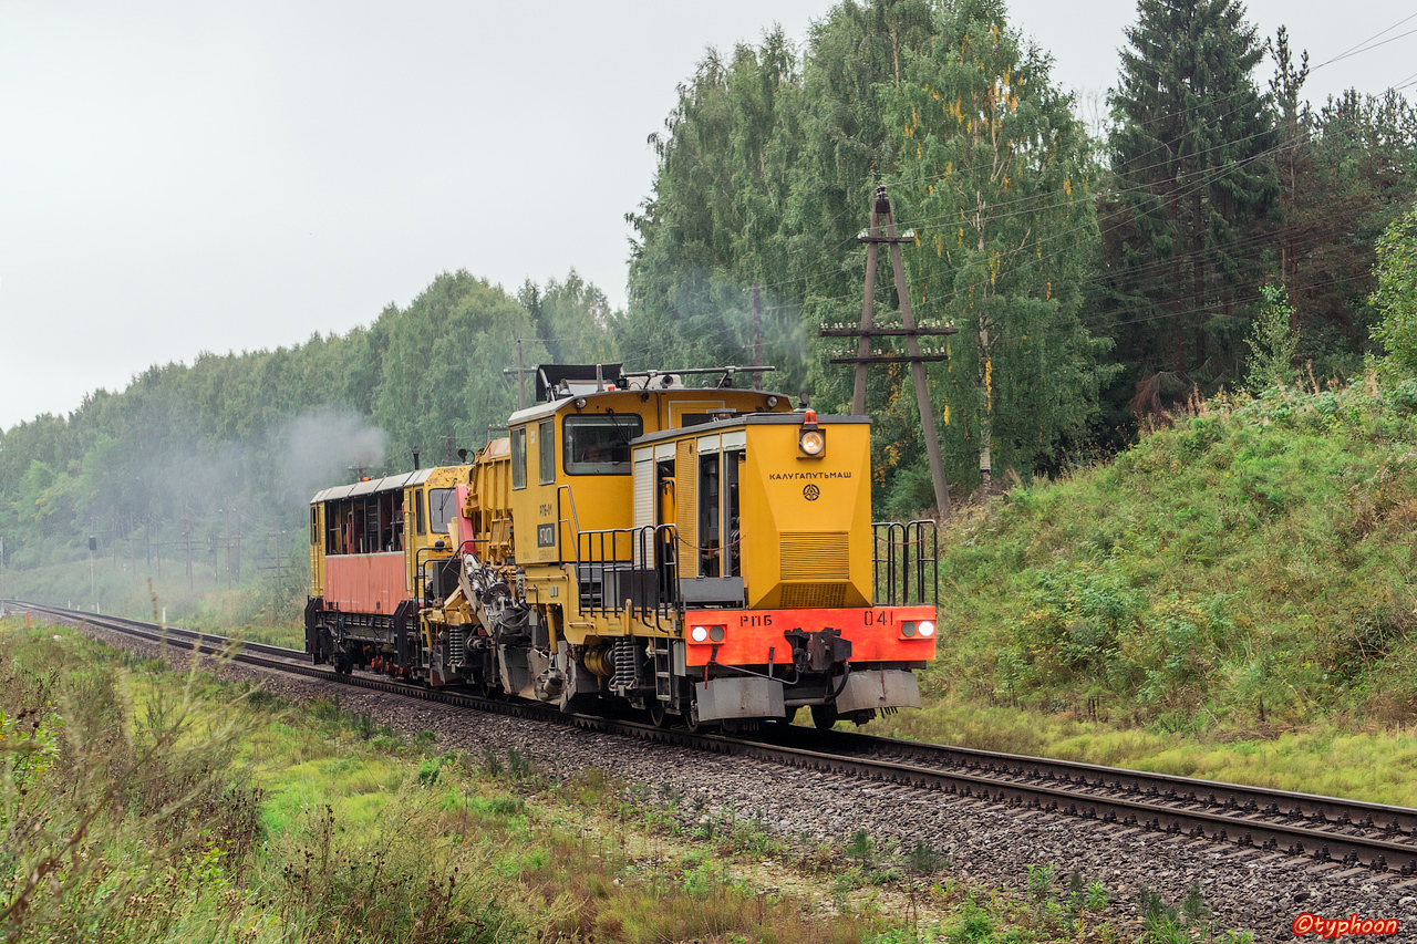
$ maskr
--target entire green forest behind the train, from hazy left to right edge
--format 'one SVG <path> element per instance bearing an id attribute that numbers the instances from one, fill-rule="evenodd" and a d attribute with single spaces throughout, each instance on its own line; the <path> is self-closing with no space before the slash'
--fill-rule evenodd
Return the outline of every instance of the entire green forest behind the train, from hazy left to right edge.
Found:
<path id="1" fill-rule="evenodd" d="M 1107 461 L 1220 391 L 1401 381 L 1417 111 L 1400 88 L 1311 102 L 1322 65 L 1238 0 L 1139 0 L 1088 123 L 1000 0 L 846 0 L 801 47 L 710 50 L 650 137 L 623 310 L 574 269 L 514 292 L 444 272 L 367 327 L 153 366 L 0 432 L 0 575 L 77 581 L 98 554 L 303 601 L 309 496 L 496 437 L 519 349 L 673 369 L 761 346 L 771 386 L 846 412 L 846 342 L 819 330 L 860 319 L 879 186 L 915 235 L 917 319 L 958 329 L 928 366 L 955 500 Z M 874 305 L 900 325 L 890 278 Z M 930 513 L 908 369 L 871 371 L 876 513 Z"/>

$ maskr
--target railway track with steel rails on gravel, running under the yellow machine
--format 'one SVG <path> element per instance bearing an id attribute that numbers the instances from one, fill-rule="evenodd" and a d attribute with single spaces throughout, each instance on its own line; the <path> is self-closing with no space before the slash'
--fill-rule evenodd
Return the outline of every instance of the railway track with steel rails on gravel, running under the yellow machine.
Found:
<path id="1" fill-rule="evenodd" d="M 55 607 L 0 601 L 11 609 L 54 622 L 89 624 L 123 635 L 204 653 L 220 653 L 231 641 L 179 626 L 157 626 L 119 617 L 95 617 Z M 1322 872 L 1417 876 L 1417 809 L 1315 797 L 941 744 L 871 737 L 849 731 L 813 731 L 768 726 L 758 734 L 690 733 L 636 720 L 561 714 L 530 702 L 479 697 L 394 682 L 366 673 L 340 676 L 316 668 L 306 653 L 264 644 L 241 644 L 237 661 L 275 672 L 303 675 L 329 685 L 354 685 L 468 710 L 568 724 L 691 750 L 752 757 L 802 770 L 847 774 L 947 795 L 999 804 L 1036 815 L 1097 821 L 1118 836 L 1161 833 L 1176 842 L 1227 846 L 1233 856 L 1260 863 L 1299 863 Z"/>

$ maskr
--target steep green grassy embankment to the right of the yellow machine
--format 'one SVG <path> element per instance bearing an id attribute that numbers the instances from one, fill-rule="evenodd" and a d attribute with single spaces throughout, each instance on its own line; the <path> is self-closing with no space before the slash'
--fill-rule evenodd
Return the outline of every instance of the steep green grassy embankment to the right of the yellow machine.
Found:
<path id="1" fill-rule="evenodd" d="M 1417 807 L 1417 384 L 1202 404 L 956 516 L 873 733 Z"/>

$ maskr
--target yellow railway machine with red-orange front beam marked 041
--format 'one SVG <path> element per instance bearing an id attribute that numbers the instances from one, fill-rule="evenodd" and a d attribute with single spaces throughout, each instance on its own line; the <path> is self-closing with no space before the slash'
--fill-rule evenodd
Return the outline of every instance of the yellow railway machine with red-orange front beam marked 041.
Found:
<path id="1" fill-rule="evenodd" d="M 540 367 L 408 558 L 421 632 L 385 670 L 691 727 L 918 707 L 934 523 L 873 526 L 870 421 L 733 388 L 748 370 Z"/>

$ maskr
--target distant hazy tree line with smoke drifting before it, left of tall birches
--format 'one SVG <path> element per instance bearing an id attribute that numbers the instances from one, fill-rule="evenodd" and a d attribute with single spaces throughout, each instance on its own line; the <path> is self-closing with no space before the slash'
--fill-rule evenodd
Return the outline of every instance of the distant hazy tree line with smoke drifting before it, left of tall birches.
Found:
<path id="1" fill-rule="evenodd" d="M 415 449 L 456 462 L 516 410 L 519 344 L 527 364 L 602 359 L 611 318 L 574 271 L 516 296 L 455 272 L 347 335 L 150 367 L 0 437 L 4 563 L 69 561 L 89 536 L 143 560 L 214 561 L 232 536 L 248 561 L 289 554 L 316 490 L 410 469 Z"/>

